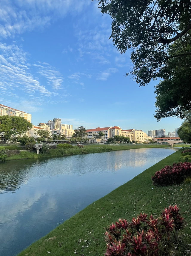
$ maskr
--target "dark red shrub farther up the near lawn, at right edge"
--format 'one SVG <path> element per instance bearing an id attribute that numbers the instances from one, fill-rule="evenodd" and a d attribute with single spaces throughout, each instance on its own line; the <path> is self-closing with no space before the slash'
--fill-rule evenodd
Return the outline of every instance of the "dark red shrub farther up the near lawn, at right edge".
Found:
<path id="1" fill-rule="evenodd" d="M 172 184 L 179 184 L 183 182 L 185 177 L 191 175 L 191 163 L 179 162 L 174 163 L 172 166 L 167 165 L 160 171 L 156 171 L 152 176 L 153 184 L 160 186 L 167 186 Z"/>

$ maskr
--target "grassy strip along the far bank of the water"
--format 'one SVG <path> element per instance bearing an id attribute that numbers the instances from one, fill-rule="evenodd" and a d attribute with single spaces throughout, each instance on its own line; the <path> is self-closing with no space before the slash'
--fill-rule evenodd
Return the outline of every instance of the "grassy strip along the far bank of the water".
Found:
<path id="1" fill-rule="evenodd" d="M 107 151 L 114 150 L 128 150 L 133 148 L 153 148 L 153 147 L 170 147 L 168 145 L 159 145 L 159 144 L 143 144 L 143 145 L 84 145 L 83 148 L 74 146 L 74 148 L 68 149 L 51 149 L 50 153 L 36 154 L 35 152 L 30 153 L 28 151 L 21 151 L 19 154 L 15 154 L 7 157 L 6 160 L 16 160 L 16 159 L 30 159 L 30 158 L 41 158 L 41 157 L 54 157 L 54 156 L 69 156 L 69 155 L 79 155 L 79 154 L 88 154 L 88 153 L 102 153 Z"/>

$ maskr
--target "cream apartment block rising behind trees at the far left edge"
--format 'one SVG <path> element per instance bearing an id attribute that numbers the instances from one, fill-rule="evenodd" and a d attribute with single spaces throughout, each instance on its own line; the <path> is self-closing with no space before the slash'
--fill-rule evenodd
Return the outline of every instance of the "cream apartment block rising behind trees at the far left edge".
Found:
<path id="1" fill-rule="evenodd" d="M 31 123 L 31 114 L 0 104 L 0 116 L 4 115 L 24 117 L 24 119 Z"/>

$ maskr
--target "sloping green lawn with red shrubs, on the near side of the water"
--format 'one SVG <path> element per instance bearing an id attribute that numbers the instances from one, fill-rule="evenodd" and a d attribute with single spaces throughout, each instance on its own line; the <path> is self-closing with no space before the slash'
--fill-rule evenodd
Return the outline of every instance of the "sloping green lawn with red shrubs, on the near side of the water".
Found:
<path id="1" fill-rule="evenodd" d="M 117 221 L 118 218 L 126 218 L 130 221 L 140 212 L 153 213 L 157 217 L 169 204 L 178 204 L 186 221 L 182 236 L 187 245 L 181 245 L 181 248 L 176 251 L 177 255 L 179 252 L 190 249 L 188 243 L 191 236 L 191 184 L 155 187 L 151 180 L 155 171 L 177 162 L 180 155 L 180 151 L 173 153 L 105 197 L 90 204 L 47 236 L 33 243 L 19 256 L 44 256 L 49 255 L 48 252 L 55 256 L 104 255 L 106 251 L 104 227 Z"/>

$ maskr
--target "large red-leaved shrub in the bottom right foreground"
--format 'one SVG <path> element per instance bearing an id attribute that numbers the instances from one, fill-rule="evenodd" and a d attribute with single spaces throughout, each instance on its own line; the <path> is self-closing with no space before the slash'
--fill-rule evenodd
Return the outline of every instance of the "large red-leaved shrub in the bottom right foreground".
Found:
<path id="1" fill-rule="evenodd" d="M 140 213 L 131 222 L 119 219 L 105 233 L 106 256 L 173 255 L 173 243 L 178 243 L 178 231 L 183 218 L 177 205 L 165 208 L 158 219 Z"/>

